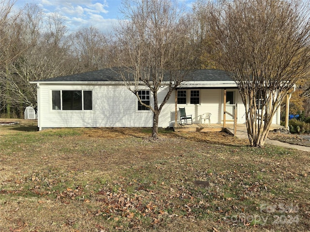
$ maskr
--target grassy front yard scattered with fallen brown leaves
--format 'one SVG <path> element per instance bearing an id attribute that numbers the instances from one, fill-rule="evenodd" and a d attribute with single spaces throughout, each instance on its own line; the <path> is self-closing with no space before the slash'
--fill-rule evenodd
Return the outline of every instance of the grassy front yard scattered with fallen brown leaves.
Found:
<path id="1" fill-rule="evenodd" d="M 0 126 L 0 231 L 310 231 L 307 152 L 19 121 Z"/>

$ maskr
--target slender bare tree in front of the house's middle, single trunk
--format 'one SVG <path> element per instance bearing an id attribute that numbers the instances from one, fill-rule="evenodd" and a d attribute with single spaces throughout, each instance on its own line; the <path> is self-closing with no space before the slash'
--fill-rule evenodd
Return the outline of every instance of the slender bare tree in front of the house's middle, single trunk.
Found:
<path id="1" fill-rule="evenodd" d="M 194 65 L 193 49 L 188 43 L 189 28 L 177 1 L 125 0 L 125 20 L 115 35 L 118 42 L 117 62 L 126 87 L 142 106 L 153 112 L 152 137 L 158 136 L 159 114 L 172 91 L 180 85 Z M 167 94 L 158 101 L 159 89 Z M 154 104 L 142 101 L 139 90 L 148 88 Z"/>

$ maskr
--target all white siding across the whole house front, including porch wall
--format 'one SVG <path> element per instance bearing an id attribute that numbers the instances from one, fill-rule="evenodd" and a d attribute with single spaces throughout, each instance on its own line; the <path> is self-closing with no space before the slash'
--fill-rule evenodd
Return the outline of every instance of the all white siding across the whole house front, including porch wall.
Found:
<path id="1" fill-rule="evenodd" d="M 92 91 L 92 110 L 52 110 L 52 90 L 88 90 Z M 200 91 L 200 104 L 180 104 L 185 107 L 186 114 L 192 115 L 193 123 L 201 123 L 204 113 L 211 113 L 211 123 L 222 123 L 222 89 L 198 89 Z M 167 87 L 158 92 L 159 104 L 163 101 L 168 91 Z M 189 102 L 190 89 L 187 90 L 187 102 Z M 38 124 L 43 128 L 57 127 L 152 127 L 153 112 L 151 110 L 138 111 L 138 99 L 124 85 L 74 85 L 74 84 L 45 84 L 38 87 Z M 245 123 L 245 107 L 238 91 L 236 100 L 238 103 L 238 123 Z M 150 103 L 154 105 L 152 94 Z M 275 116 L 273 123 L 277 122 L 279 114 Z M 179 118 L 177 118 L 179 120 Z M 159 127 L 173 126 L 175 123 L 175 92 L 164 105 L 159 116 Z"/>

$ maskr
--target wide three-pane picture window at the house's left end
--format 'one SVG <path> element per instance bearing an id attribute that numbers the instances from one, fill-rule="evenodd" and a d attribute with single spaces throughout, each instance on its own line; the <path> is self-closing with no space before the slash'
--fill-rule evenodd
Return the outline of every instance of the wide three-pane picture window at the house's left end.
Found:
<path id="1" fill-rule="evenodd" d="M 52 90 L 53 110 L 92 110 L 90 90 Z"/>

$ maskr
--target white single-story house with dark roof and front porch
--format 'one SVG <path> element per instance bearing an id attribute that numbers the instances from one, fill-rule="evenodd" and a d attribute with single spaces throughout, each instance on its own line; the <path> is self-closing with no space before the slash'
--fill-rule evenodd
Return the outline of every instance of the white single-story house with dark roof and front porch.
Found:
<path id="1" fill-rule="evenodd" d="M 39 130 L 61 127 L 152 127 L 153 112 L 142 106 L 124 85 L 122 76 L 111 69 L 32 81 L 37 85 Z M 167 93 L 163 86 L 159 101 Z M 226 104 L 224 106 L 224 93 Z M 153 102 L 150 90 L 141 85 L 140 98 Z M 179 125 L 179 107 L 192 115 L 192 123 L 202 124 L 202 115 L 211 113 L 210 123 L 222 124 L 224 107 L 233 114 L 237 107 L 237 123 L 246 120 L 245 107 L 235 82 L 221 70 L 194 70 L 188 81 L 180 85 L 163 107 L 159 127 Z M 177 112 L 176 112 L 177 109 Z M 177 121 L 175 121 L 177 119 Z M 226 122 L 233 123 L 226 115 Z M 207 122 L 206 128 L 209 126 Z M 280 109 L 272 121 L 280 124 Z"/>

